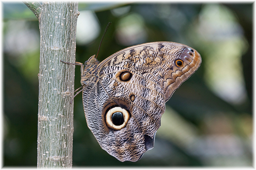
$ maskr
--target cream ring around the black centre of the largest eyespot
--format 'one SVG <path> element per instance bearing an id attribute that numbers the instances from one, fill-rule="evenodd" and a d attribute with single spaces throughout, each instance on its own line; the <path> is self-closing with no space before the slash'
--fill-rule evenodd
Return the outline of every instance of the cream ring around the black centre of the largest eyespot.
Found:
<path id="1" fill-rule="evenodd" d="M 123 124 L 117 126 L 115 124 L 113 124 L 113 121 L 112 121 L 112 116 L 114 113 L 117 113 L 117 112 L 121 112 L 123 114 L 123 119 L 124 119 L 124 122 Z M 120 130 L 122 128 L 124 128 L 130 118 L 130 114 L 129 112 L 127 112 L 125 109 L 122 109 L 121 107 L 114 107 L 112 109 L 110 109 L 106 116 L 105 116 L 105 120 L 106 120 L 106 124 L 108 125 L 109 128 L 112 128 L 112 129 L 115 129 L 115 130 Z"/>

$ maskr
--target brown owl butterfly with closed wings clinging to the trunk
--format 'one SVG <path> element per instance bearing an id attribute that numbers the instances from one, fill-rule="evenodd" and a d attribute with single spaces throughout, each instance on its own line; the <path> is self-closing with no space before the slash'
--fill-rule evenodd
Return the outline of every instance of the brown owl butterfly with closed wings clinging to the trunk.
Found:
<path id="1" fill-rule="evenodd" d="M 110 155 L 136 162 L 154 147 L 166 101 L 198 69 L 201 56 L 184 44 L 149 42 L 101 63 L 95 55 L 76 63 L 88 128 Z"/>

